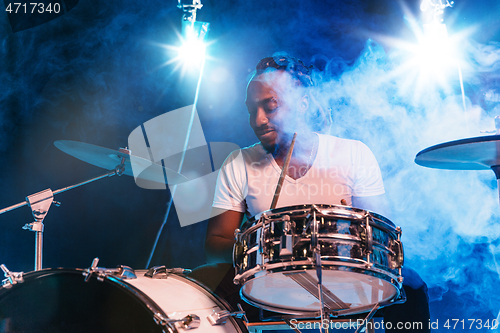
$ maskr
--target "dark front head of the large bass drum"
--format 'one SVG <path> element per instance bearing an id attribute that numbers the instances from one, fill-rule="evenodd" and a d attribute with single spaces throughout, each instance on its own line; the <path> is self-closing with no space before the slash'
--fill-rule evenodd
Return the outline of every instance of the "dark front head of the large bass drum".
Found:
<path id="1" fill-rule="evenodd" d="M 162 332 L 137 290 L 83 270 L 45 269 L 0 288 L 2 332 Z M 152 308 L 154 309 L 154 307 Z"/>

